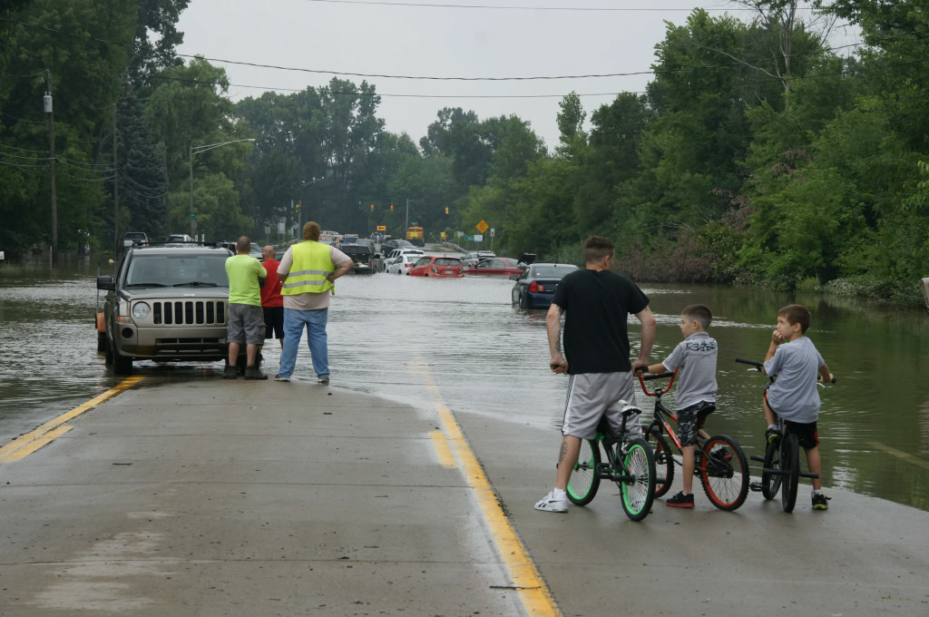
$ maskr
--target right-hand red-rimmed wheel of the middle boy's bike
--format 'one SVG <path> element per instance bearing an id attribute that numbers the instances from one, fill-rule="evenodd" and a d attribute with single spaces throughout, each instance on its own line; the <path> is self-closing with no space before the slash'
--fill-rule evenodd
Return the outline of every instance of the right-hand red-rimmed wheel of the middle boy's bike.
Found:
<path id="1" fill-rule="evenodd" d="M 713 505 L 731 512 L 749 494 L 749 463 L 739 444 L 726 435 L 706 440 L 700 457 L 700 483 Z"/>

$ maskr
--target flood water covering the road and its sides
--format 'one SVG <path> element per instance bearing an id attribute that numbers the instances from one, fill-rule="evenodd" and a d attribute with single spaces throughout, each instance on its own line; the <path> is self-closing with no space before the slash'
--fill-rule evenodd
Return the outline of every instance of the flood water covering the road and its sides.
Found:
<path id="1" fill-rule="evenodd" d="M 53 276 L 39 269 L 0 271 L 0 441 L 119 381 L 96 351 L 95 274 L 89 264 Z M 340 279 L 329 316 L 333 386 L 427 407 L 428 372 L 452 410 L 506 420 L 515 447 L 519 427 L 549 427 L 555 449 L 567 378 L 548 370 L 544 311 L 512 308 L 512 284 L 387 274 Z M 704 303 L 713 309 L 720 389 L 707 426 L 711 434 L 739 440 L 746 454 L 762 452 L 767 379 L 734 360 L 763 360 L 777 309 L 791 302 L 808 306 L 813 324 L 807 335 L 838 379 L 820 390 L 824 484 L 929 510 L 929 315 L 813 294 L 642 287 L 659 321 L 653 362 L 680 341 L 681 308 Z M 630 338 L 635 348 L 635 319 Z M 265 352 L 269 374 L 278 365 L 273 347 Z M 150 377 L 143 388 L 218 379 L 221 369 L 220 363 L 136 363 L 136 373 Z M 294 374 L 301 379 L 315 381 L 306 346 Z M 650 409 L 650 399 L 639 396 L 638 402 Z"/>

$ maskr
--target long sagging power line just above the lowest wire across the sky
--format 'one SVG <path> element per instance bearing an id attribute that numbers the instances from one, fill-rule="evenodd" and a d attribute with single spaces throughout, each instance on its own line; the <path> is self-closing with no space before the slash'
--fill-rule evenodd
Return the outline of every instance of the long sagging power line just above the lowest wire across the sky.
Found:
<path id="1" fill-rule="evenodd" d="M 91 36 L 89 34 L 77 34 L 69 33 L 63 30 L 58 30 L 55 28 L 49 28 L 47 26 L 41 26 L 38 24 L 28 23 L 20 20 L 12 20 L 10 18 L 0 17 L 0 20 L 11 21 L 13 23 L 18 23 L 23 26 L 37 28 L 39 30 L 45 30 L 46 32 L 65 34 L 68 36 L 74 36 L 77 38 L 96 41 L 98 43 L 105 43 L 107 45 L 121 46 L 132 49 L 136 53 L 139 53 L 141 50 L 137 46 L 129 45 L 125 43 L 117 43 L 114 41 L 108 41 L 106 39 L 101 39 L 96 36 Z M 892 38 L 897 38 L 899 36 L 910 36 L 920 33 L 903 33 L 897 35 L 891 35 L 884 37 L 881 40 L 889 40 Z M 834 47 L 824 47 L 817 49 L 811 52 L 805 52 L 802 54 L 792 54 L 787 56 L 781 56 L 780 58 L 800 58 L 803 56 L 818 55 L 826 51 L 836 51 L 838 49 L 845 49 L 848 47 L 857 47 L 869 45 L 868 43 L 852 43 L 844 46 L 834 46 Z M 150 54 L 149 54 L 150 55 Z M 726 62 L 723 64 L 714 64 L 700 67 L 682 67 L 679 69 L 669 69 L 665 71 L 634 71 L 634 72 L 608 72 L 608 73 L 589 73 L 589 74 L 572 74 L 572 75 L 531 75 L 531 76 L 509 76 L 509 77 L 462 77 L 462 76 L 435 76 L 435 75 L 399 75 L 399 74 L 388 74 L 388 73 L 366 73 L 366 72 L 346 72 L 346 71 L 333 71 L 328 69 L 307 69 L 301 67 L 288 67 L 276 64 L 262 64 L 259 62 L 248 62 L 243 60 L 229 60 L 221 58 L 209 58 L 204 56 L 190 55 L 190 54 L 176 54 L 179 58 L 189 58 L 189 59 L 204 59 L 209 62 L 222 62 L 224 64 L 232 64 L 236 66 L 249 66 L 259 69 L 273 69 L 278 71 L 290 71 L 290 72 L 308 72 L 312 74 L 328 74 L 328 75 L 345 75 L 349 77 L 377 77 L 382 79 L 411 79 L 411 80 L 429 80 L 429 81 L 468 81 L 468 82 L 477 82 L 477 81 L 491 81 L 491 82 L 502 82 L 502 81 L 534 81 L 534 80 L 559 80 L 559 79 L 591 79 L 591 78 L 602 78 L 602 77 L 629 77 L 635 75 L 654 75 L 660 74 L 661 72 L 682 72 L 682 71 L 693 71 L 693 70 L 707 70 L 707 69 L 716 69 L 724 68 L 729 66 L 743 65 L 745 63 L 754 63 L 754 62 L 766 62 L 770 58 L 763 59 L 750 59 L 744 61 L 734 61 Z"/>

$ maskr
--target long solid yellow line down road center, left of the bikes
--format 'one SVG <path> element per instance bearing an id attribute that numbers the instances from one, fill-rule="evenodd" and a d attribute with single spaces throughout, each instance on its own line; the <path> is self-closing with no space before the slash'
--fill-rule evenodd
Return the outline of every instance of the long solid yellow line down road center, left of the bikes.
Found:
<path id="1" fill-rule="evenodd" d="M 478 497 L 481 513 L 484 515 L 484 520 L 487 521 L 487 527 L 491 531 L 494 544 L 497 545 L 497 550 L 500 552 L 506 569 L 510 573 L 513 586 L 517 589 L 523 607 L 525 607 L 526 612 L 535 617 L 561 617 L 561 610 L 558 610 L 552 592 L 549 590 L 548 585 L 545 584 L 542 574 L 535 567 L 526 546 L 519 539 L 513 523 L 504 514 L 504 509 L 500 505 L 497 493 L 493 490 L 491 480 L 487 478 L 484 467 L 478 462 L 477 455 L 471 450 L 467 440 L 464 439 L 464 433 L 462 433 L 458 421 L 455 420 L 454 414 L 445 405 L 441 391 L 432 379 L 432 374 L 429 373 L 425 366 L 419 368 L 426 387 L 432 392 L 445 433 L 448 435 L 449 441 L 451 441 L 458 460 L 461 461 L 464 478 L 467 479 L 468 484 Z"/>

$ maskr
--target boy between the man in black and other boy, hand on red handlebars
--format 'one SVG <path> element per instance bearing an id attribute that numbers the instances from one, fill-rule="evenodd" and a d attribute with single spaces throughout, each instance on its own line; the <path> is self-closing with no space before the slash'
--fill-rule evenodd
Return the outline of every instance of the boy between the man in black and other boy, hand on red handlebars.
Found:
<path id="1" fill-rule="evenodd" d="M 677 431 L 681 440 L 684 467 L 684 491 L 665 502 L 674 507 L 694 506 L 694 448 L 700 437 L 709 437 L 700 428 L 706 416 L 715 409 L 716 401 L 716 340 L 706 333 L 713 321 L 710 308 L 694 304 L 681 312 L 681 341 L 671 355 L 648 367 L 648 373 L 664 373 L 681 369 L 677 378 Z M 711 403 L 711 404 L 707 404 Z"/>

